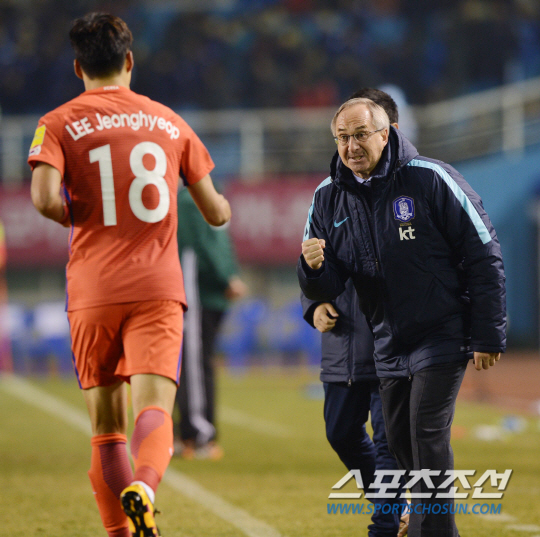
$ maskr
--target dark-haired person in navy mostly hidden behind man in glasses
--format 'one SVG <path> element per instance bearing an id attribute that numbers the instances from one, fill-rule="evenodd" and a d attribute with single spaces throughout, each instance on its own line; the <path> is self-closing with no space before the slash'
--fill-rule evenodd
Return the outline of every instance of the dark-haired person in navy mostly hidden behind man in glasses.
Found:
<path id="1" fill-rule="evenodd" d="M 388 93 L 362 88 L 351 99 L 364 97 L 382 106 L 390 124 L 398 128 L 398 106 Z M 397 470 L 388 449 L 382 414 L 379 379 L 373 359 L 373 334 L 360 310 L 352 280 L 332 302 L 308 299 L 301 294 L 304 319 L 322 333 L 321 380 L 324 384 L 326 437 L 348 470 L 360 470 L 365 493 L 375 479 L 376 470 Z M 366 432 L 371 418 L 373 438 Z M 403 493 L 401 488 L 399 493 Z M 409 515 L 405 500 L 373 498 L 381 509 L 373 513 L 369 537 L 400 537 L 407 534 Z M 398 512 L 383 513 L 385 504 L 399 505 Z M 398 533 L 399 532 L 399 533 Z"/>

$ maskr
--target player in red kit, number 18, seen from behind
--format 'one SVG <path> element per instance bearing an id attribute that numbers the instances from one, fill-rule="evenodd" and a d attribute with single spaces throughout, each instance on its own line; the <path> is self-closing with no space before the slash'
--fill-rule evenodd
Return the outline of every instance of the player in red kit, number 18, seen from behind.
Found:
<path id="1" fill-rule="evenodd" d="M 154 495 L 173 452 L 186 307 L 176 242 L 179 177 L 210 224 L 227 222 L 230 206 L 214 189 L 214 164 L 191 128 L 129 89 L 125 22 L 90 13 L 74 22 L 70 39 L 86 91 L 39 121 L 28 157 L 32 201 L 71 228 L 67 312 L 103 524 L 109 537 L 155 537 Z M 125 382 L 136 416 L 134 473 Z"/>

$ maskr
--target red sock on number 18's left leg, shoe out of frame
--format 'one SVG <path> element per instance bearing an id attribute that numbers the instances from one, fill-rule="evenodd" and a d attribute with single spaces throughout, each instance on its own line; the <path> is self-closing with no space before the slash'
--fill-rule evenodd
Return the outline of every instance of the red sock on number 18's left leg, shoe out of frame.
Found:
<path id="1" fill-rule="evenodd" d="M 133 481 L 133 471 L 123 434 L 92 437 L 92 461 L 88 476 L 99 513 L 109 537 L 131 537 L 127 517 L 120 505 L 120 493 Z"/>

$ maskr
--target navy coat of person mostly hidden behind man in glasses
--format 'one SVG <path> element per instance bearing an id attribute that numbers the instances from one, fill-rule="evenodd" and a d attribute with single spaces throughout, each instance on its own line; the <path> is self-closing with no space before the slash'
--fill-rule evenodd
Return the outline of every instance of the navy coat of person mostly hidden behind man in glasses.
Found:
<path id="1" fill-rule="evenodd" d="M 313 313 L 322 302 L 301 295 L 304 319 L 314 326 Z M 373 334 L 360 311 L 358 295 L 352 280 L 345 283 L 345 291 L 332 304 L 339 313 L 336 325 L 321 336 L 321 381 L 359 382 L 376 380 L 373 360 Z"/>

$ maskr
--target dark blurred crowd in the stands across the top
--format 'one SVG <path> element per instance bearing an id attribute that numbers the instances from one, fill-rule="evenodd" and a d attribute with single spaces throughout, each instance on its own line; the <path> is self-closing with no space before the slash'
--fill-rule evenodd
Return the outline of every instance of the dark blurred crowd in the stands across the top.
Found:
<path id="1" fill-rule="evenodd" d="M 82 91 L 67 34 L 91 10 L 126 20 L 132 89 L 174 109 L 332 106 L 385 83 L 426 104 L 540 76 L 537 0 L 2 0 L 4 113 Z"/>

